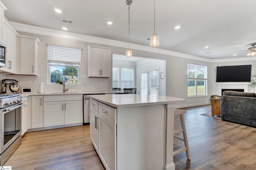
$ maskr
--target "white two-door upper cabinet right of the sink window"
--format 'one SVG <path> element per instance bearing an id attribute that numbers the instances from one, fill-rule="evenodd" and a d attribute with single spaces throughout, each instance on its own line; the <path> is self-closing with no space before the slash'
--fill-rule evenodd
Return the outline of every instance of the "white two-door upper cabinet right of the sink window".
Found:
<path id="1" fill-rule="evenodd" d="M 111 77 L 112 53 L 110 48 L 88 45 L 88 77 Z"/>

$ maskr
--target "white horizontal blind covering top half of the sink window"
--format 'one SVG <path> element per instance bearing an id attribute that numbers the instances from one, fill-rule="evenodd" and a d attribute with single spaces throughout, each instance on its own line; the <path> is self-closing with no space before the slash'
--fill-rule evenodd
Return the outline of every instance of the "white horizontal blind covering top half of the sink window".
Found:
<path id="1" fill-rule="evenodd" d="M 48 63 L 80 64 L 81 48 L 48 44 Z"/>

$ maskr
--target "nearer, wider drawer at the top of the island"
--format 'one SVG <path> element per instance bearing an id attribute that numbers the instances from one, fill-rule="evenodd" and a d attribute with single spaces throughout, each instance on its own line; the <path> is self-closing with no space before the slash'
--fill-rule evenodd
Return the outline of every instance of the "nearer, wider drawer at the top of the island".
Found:
<path id="1" fill-rule="evenodd" d="M 99 111 L 104 117 L 116 124 L 116 109 L 99 102 Z"/>

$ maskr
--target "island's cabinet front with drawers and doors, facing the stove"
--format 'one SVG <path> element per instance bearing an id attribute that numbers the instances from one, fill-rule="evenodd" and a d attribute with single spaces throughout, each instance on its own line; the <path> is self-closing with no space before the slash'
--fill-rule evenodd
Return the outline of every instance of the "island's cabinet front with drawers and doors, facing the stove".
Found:
<path id="1" fill-rule="evenodd" d="M 92 99 L 91 99 L 92 100 Z M 93 103 L 92 101 L 90 103 Z M 116 109 L 98 102 L 90 107 L 90 135 L 106 170 L 116 170 Z"/>

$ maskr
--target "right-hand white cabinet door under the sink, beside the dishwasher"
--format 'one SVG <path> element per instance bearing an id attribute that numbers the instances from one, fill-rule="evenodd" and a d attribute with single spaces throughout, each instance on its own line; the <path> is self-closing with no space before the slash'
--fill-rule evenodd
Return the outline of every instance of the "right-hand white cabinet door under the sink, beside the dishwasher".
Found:
<path id="1" fill-rule="evenodd" d="M 74 124 L 83 122 L 83 101 L 65 101 L 64 102 L 64 124 Z"/>

